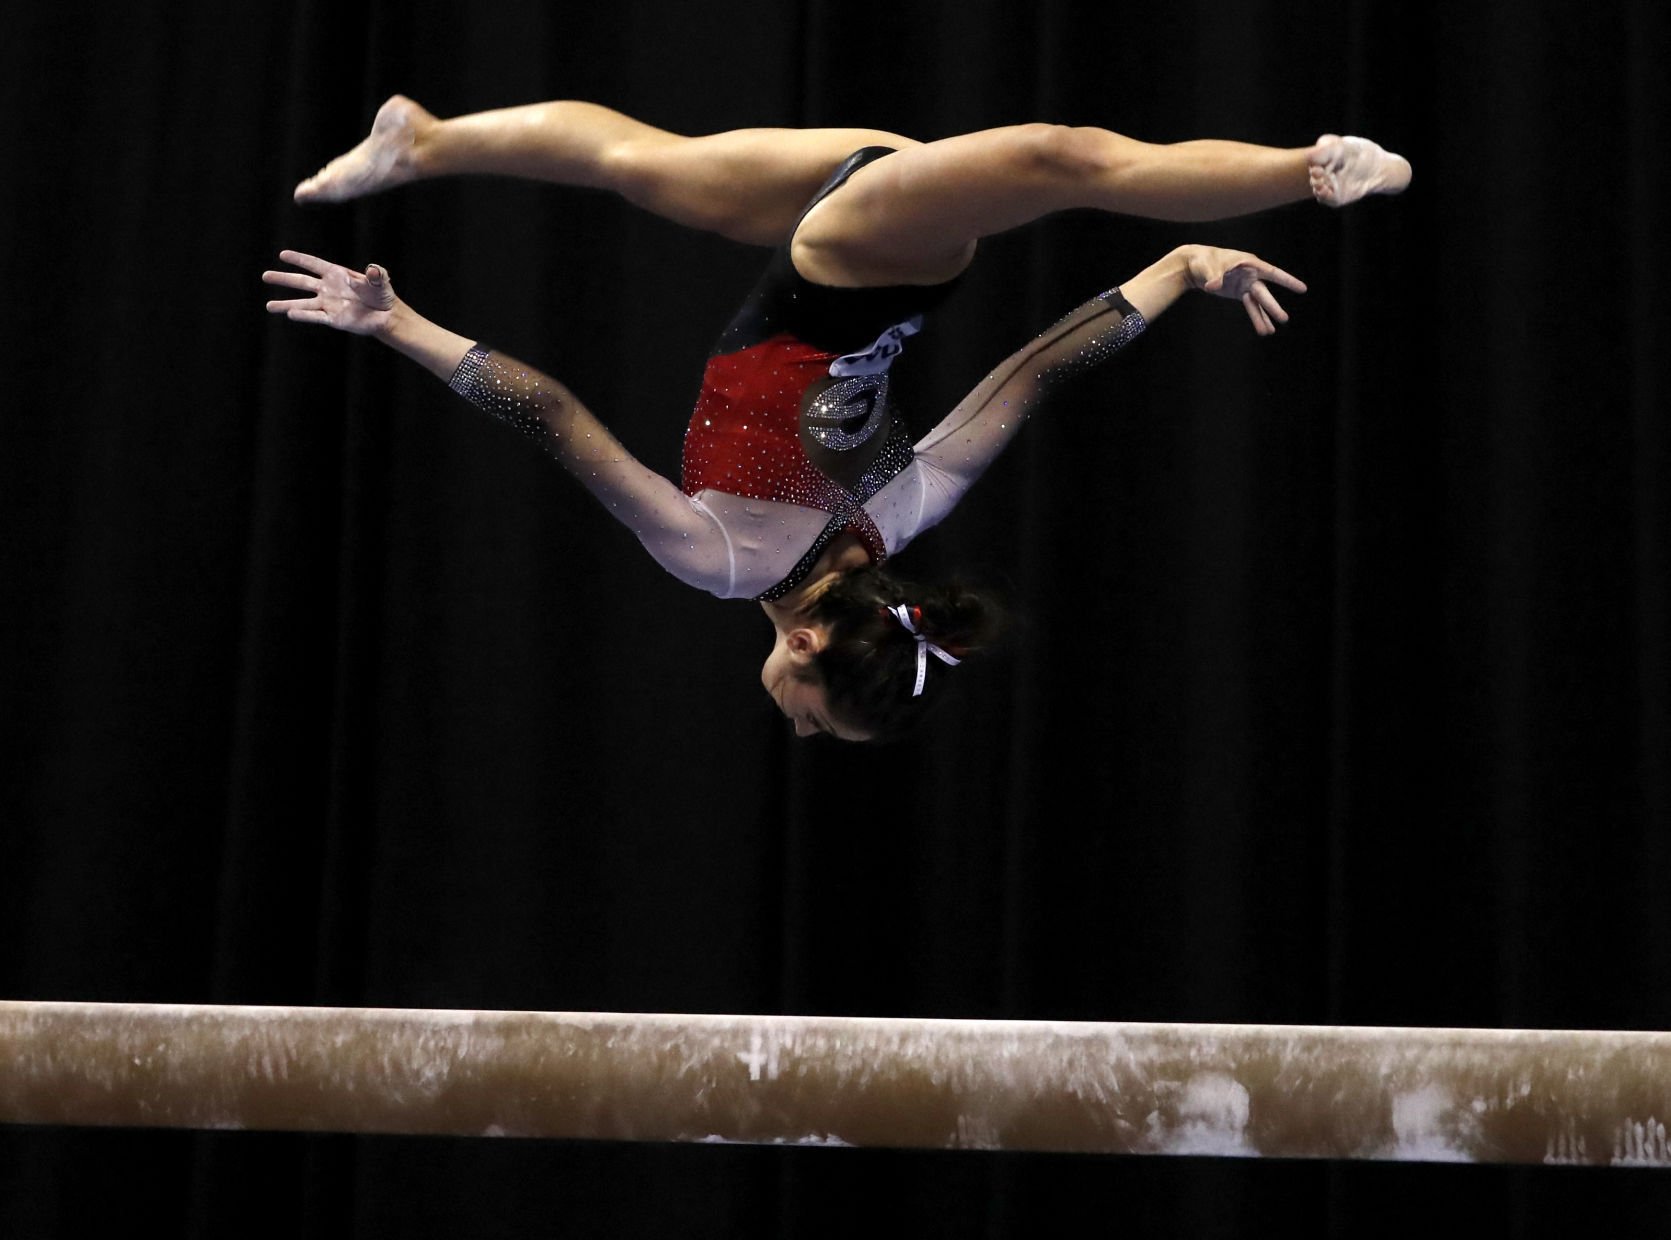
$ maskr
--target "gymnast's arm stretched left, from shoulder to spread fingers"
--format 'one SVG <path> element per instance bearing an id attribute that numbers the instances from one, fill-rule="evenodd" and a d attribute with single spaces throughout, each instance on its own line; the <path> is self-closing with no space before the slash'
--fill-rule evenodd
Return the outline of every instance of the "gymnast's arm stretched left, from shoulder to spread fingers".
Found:
<path id="1" fill-rule="evenodd" d="M 727 583 L 730 550 L 715 518 L 628 453 L 561 383 L 423 318 L 394 296 L 376 264 L 358 272 L 296 251 L 279 257 L 301 271 L 267 271 L 262 279 L 311 296 L 269 301 L 269 313 L 371 336 L 406 354 L 538 440 L 673 577 L 703 590 Z"/>

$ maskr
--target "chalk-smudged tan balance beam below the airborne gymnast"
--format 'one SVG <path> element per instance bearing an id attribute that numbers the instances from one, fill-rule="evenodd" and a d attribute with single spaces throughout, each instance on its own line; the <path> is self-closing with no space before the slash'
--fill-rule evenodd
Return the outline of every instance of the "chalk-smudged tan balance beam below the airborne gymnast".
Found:
<path id="1" fill-rule="evenodd" d="M 1671 1166 L 1671 1034 L 0 1001 L 0 1123 Z"/>

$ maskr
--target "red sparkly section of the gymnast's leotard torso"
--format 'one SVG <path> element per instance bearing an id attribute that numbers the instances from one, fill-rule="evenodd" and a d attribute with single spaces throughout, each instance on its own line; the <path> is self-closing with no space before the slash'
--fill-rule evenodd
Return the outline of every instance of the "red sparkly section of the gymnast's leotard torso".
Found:
<path id="1" fill-rule="evenodd" d="M 871 558 L 882 560 L 887 548 L 876 523 L 800 446 L 800 399 L 829 378 L 836 358 L 787 333 L 709 358 L 680 485 L 685 495 L 712 490 L 846 516 Z"/>

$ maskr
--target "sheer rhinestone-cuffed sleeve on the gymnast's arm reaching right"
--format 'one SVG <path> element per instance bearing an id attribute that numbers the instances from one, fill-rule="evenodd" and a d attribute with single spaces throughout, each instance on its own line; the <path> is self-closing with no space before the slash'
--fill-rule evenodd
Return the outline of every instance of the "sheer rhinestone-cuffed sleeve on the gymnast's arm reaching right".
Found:
<path id="1" fill-rule="evenodd" d="M 899 551 L 937 525 L 1056 388 L 1113 358 L 1148 321 L 1120 289 L 1078 306 L 986 376 L 916 445 L 911 468 L 867 505 Z"/>

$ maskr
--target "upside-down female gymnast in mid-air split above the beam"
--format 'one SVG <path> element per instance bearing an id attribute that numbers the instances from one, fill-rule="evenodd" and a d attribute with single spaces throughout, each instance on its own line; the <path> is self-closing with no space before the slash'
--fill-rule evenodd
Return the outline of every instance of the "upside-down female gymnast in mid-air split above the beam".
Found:
<path id="1" fill-rule="evenodd" d="M 1183 292 L 1240 301 L 1267 336 L 1253 254 L 1181 246 L 998 366 L 911 441 L 889 368 L 981 237 L 1069 207 L 1198 222 L 1303 199 L 1397 194 L 1410 165 L 1360 137 L 1277 149 L 1151 145 L 1103 129 L 1013 125 L 916 142 L 869 129 L 680 137 L 585 102 L 438 119 L 389 99 L 371 134 L 296 187 L 341 202 L 451 174 L 608 189 L 667 219 L 769 246 L 772 259 L 709 358 L 682 486 L 650 471 L 555 379 L 416 314 L 386 269 L 284 251 L 262 279 L 296 323 L 373 336 L 538 440 L 655 560 L 722 598 L 754 598 L 775 640 L 760 673 L 797 735 L 889 739 L 991 642 L 998 608 L 962 585 L 919 588 L 882 562 L 944 518 L 1061 378 L 1103 361 Z"/>

